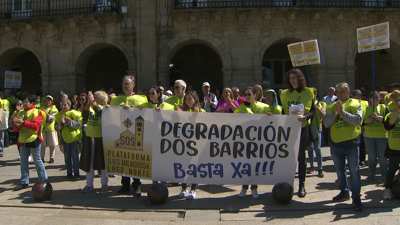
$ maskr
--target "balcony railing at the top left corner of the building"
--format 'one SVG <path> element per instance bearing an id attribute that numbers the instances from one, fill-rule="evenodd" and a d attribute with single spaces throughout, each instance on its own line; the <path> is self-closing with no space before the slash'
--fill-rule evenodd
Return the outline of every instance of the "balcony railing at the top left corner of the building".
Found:
<path id="1" fill-rule="evenodd" d="M 119 0 L 0 0 L 0 19 L 116 12 Z"/>

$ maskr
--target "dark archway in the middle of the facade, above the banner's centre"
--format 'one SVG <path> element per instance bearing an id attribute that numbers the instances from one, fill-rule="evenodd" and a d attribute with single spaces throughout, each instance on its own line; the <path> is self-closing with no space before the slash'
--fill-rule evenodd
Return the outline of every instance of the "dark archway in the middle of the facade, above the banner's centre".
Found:
<path id="1" fill-rule="evenodd" d="M 172 58 L 170 64 L 170 85 L 175 80 L 182 79 L 192 85 L 198 93 L 201 85 L 207 81 L 211 90 L 223 88 L 222 62 L 218 54 L 205 45 L 193 44 L 180 49 Z M 169 87 L 168 87 L 169 88 Z"/>

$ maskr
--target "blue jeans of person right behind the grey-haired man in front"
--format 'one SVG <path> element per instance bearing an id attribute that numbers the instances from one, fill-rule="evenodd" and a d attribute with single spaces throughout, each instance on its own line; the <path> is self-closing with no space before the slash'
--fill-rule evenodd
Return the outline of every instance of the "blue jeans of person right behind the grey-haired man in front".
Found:
<path id="1" fill-rule="evenodd" d="M 379 162 L 381 166 L 381 182 L 385 183 L 386 173 L 389 167 L 389 161 L 385 157 L 386 145 L 388 142 L 387 138 L 370 138 L 365 137 L 365 146 L 367 147 L 368 153 L 368 166 L 369 166 L 369 178 L 375 177 L 376 164 Z M 378 159 L 378 160 L 377 160 Z"/>

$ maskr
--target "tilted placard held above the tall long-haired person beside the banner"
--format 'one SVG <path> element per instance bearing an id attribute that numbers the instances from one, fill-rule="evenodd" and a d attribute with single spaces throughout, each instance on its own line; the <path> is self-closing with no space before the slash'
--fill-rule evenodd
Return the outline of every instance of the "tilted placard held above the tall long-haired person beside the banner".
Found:
<path id="1" fill-rule="evenodd" d="M 321 63 L 318 40 L 309 40 L 288 45 L 293 67 Z"/>

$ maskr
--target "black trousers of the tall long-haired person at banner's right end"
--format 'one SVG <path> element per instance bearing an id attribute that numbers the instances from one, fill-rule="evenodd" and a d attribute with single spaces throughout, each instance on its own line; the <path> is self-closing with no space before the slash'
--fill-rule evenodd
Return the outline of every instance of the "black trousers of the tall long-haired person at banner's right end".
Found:
<path id="1" fill-rule="evenodd" d="M 304 184 L 306 182 L 306 170 L 307 170 L 307 161 L 306 161 L 306 147 L 310 142 L 310 126 L 301 128 L 300 134 L 300 148 L 299 148 L 299 158 L 298 158 L 298 171 L 299 171 L 299 183 Z"/>

